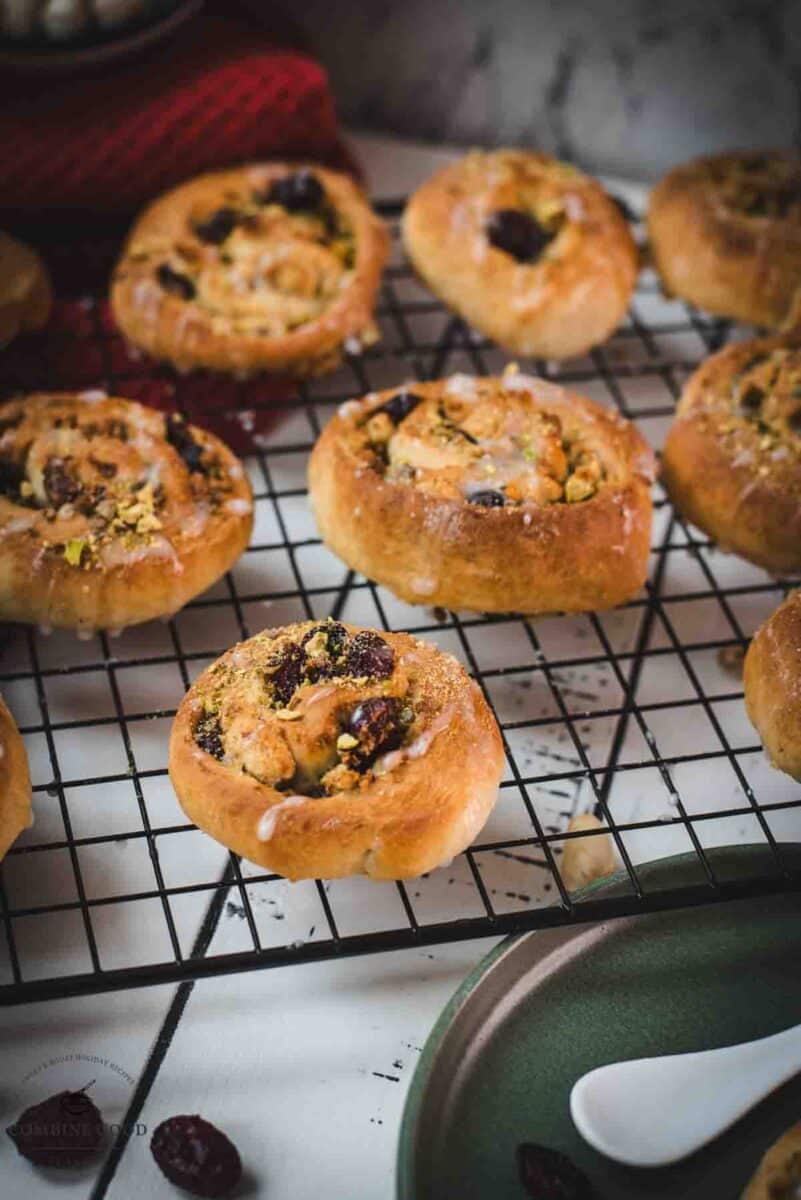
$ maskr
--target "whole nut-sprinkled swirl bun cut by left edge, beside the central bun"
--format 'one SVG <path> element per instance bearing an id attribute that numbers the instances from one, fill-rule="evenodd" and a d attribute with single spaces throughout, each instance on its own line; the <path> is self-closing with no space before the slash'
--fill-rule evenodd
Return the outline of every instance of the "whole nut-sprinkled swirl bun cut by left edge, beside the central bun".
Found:
<path id="1" fill-rule="evenodd" d="M 0 619 L 119 629 L 176 612 L 247 546 L 218 438 L 103 392 L 0 406 Z"/>

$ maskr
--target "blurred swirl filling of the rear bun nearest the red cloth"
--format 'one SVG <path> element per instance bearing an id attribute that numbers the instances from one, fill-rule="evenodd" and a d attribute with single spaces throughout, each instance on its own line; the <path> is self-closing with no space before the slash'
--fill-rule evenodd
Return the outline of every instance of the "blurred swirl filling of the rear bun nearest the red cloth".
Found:
<path id="1" fill-rule="evenodd" d="M 152 264 L 161 289 L 195 305 L 212 329 L 281 336 L 314 320 L 353 281 L 355 235 L 308 170 L 264 192 L 228 190 L 193 211 L 174 245 L 143 234 L 127 258 Z"/>

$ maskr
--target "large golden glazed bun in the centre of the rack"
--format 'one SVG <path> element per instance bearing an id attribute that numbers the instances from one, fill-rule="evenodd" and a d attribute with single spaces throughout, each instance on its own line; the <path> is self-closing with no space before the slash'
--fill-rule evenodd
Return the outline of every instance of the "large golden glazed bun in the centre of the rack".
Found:
<path id="1" fill-rule="evenodd" d="M 583 612 L 645 580 L 654 469 L 631 422 L 511 367 L 344 404 L 309 498 L 335 553 L 410 604 Z"/>

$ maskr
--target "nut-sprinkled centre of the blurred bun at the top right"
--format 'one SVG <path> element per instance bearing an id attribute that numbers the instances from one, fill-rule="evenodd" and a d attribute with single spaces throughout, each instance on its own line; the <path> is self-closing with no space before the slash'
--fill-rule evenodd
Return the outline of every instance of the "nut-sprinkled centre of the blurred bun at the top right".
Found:
<path id="1" fill-rule="evenodd" d="M 709 168 L 721 202 L 747 217 L 801 222 L 801 166 L 789 158 L 742 155 Z"/>

